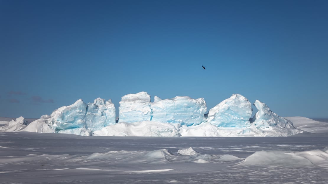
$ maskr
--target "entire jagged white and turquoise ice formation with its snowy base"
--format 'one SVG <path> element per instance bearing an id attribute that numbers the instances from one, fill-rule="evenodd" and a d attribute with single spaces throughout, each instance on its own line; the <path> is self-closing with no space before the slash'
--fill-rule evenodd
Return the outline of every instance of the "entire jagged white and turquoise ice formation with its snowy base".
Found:
<path id="1" fill-rule="evenodd" d="M 172 99 L 154 97 L 146 92 L 128 94 L 119 102 L 119 122 L 115 122 L 115 107 L 111 100 L 81 99 L 44 115 L 28 126 L 19 120 L 0 131 L 56 132 L 97 136 L 290 136 L 301 133 L 291 121 L 273 113 L 258 100 L 258 112 L 252 118 L 252 103 L 244 96 L 233 94 L 209 110 L 203 98 L 178 96 Z M 17 123 L 16 123 L 17 124 Z M 37 130 L 34 130 L 37 129 Z"/>

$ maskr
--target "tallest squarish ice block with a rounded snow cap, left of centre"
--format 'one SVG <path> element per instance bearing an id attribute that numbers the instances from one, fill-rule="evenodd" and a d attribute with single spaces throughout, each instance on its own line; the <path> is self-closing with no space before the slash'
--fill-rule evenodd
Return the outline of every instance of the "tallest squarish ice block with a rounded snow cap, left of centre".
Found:
<path id="1" fill-rule="evenodd" d="M 125 95 L 119 104 L 118 122 L 133 123 L 151 120 L 151 102 L 147 92 Z"/>

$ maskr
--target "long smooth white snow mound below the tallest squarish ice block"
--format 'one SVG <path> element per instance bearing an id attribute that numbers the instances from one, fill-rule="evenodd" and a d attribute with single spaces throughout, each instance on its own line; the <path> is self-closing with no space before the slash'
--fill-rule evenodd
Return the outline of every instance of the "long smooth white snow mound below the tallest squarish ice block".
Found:
<path id="1" fill-rule="evenodd" d="M 179 124 L 155 121 L 133 123 L 120 122 L 94 131 L 95 136 L 144 136 L 144 137 L 177 137 Z"/>

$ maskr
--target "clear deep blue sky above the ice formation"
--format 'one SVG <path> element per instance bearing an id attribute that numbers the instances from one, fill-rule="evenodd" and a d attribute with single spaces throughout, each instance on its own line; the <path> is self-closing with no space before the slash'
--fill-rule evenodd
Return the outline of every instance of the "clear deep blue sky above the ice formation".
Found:
<path id="1" fill-rule="evenodd" d="M 146 91 L 328 117 L 328 1 L 0 0 L 0 116 Z M 206 70 L 202 69 L 202 65 Z M 254 106 L 253 106 L 254 107 Z M 255 108 L 255 107 L 254 107 Z"/>

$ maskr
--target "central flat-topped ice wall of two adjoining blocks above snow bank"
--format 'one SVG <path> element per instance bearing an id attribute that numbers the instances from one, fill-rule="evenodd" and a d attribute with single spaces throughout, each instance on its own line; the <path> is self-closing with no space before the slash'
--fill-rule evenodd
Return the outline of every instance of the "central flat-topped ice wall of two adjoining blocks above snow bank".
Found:
<path id="1" fill-rule="evenodd" d="M 119 122 L 127 123 L 156 121 L 199 124 L 205 121 L 204 114 L 207 111 L 203 98 L 192 99 L 187 96 L 178 96 L 161 100 L 155 96 L 154 102 L 150 102 L 150 95 L 146 92 L 125 95 L 119 103 Z"/>

